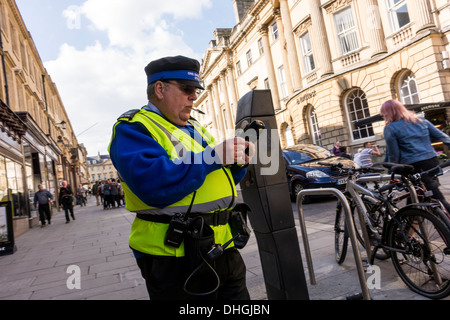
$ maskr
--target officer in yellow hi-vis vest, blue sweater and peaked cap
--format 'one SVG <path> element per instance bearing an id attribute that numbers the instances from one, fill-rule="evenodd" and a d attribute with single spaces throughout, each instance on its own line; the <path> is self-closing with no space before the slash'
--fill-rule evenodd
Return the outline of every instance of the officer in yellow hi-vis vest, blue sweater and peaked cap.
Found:
<path id="1" fill-rule="evenodd" d="M 199 70 L 197 60 L 184 56 L 150 62 L 145 67 L 148 104 L 126 112 L 114 125 L 111 160 L 120 174 L 126 208 L 136 212 L 129 244 L 150 299 L 249 299 L 245 264 L 233 242 L 209 261 L 211 268 L 201 269 L 204 277 L 196 278 L 190 277 L 185 241 L 165 241 L 175 217 L 186 215 L 201 217 L 216 244 L 232 239 L 228 218 L 237 198 L 235 185 L 255 150 L 242 138 L 217 143 L 191 117 L 203 89 Z M 211 290 L 211 273 L 220 280 L 217 290 Z M 193 279 L 201 279 L 195 280 L 195 292 L 186 290 Z"/>

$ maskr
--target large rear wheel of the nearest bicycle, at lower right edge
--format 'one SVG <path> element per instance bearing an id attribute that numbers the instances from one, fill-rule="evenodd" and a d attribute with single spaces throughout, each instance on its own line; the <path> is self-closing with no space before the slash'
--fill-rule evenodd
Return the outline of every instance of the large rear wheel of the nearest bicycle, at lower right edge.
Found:
<path id="1" fill-rule="evenodd" d="M 401 210 L 389 223 L 387 241 L 395 248 L 395 270 L 412 291 L 431 299 L 450 294 L 450 230 L 439 218 L 418 208 Z"/>

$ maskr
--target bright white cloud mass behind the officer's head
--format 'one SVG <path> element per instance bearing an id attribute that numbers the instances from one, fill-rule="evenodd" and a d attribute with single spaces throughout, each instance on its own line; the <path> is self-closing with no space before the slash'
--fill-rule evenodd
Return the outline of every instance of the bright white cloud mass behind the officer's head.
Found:
<path id="1" fill-rule="evenodd" d="M 210 0 L 167 0 L 164 5 L 87 0 L 64 10 L 67 27 L 74 32 L 91 29 L 108 35 L 108 43 L 96 41 L 82 49 L 65 43 L 58 58 L 45 63 L 89 155 L 106 153 L 117 117 L 147 102 L 147 63 L 166 55 L 197 55 L 183 41 L 177 21 L 199 19 L 210 6 Z"/>

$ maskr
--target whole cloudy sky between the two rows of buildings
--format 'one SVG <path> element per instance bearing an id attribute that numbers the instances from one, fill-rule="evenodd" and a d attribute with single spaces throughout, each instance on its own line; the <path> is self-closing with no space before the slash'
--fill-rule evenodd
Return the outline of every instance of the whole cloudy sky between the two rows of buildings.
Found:
<path id="1" fill-rule="evenodd" d="M 16 3 L 88 156 L 107 154 L 116 119 L 147 104 L 150 61 L 178 54 L 201 61 L 214 30 L 236 24 L 232 0 Z"/>

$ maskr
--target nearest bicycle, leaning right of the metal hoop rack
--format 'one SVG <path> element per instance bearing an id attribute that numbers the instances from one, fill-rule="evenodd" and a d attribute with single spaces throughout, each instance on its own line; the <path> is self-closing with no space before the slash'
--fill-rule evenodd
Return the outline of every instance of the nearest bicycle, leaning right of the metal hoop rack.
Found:
<path id="1" fill-rule="evenodd" d="M 401 172 L 398 169 L 401 167 L 402 165 L 398 165 L 396 172 Z M 349 202 L 357 209 L 358 214 L 355 216 L 360 219 L 362 238 L 365 243 L 371 244 L 365 246 L 370 263 L 373 264 L 376 252 L 383 249 L 391 256 L 396 272 L 411 290 L 431 299 L 449 295 L 450 229 L 436 213 L 438 206 L 412 203 L 397 208 L 382 192 L 369 190 L 357 183 L 363 169 L 336 168 L 348 174 L 346 194 Z M 408 181 L 407 174 L 404 176 L 402 181 Z M 366 180 L 376 179 L 379 177 L 369 177 Z M 409 191 L 412 194 L 416 192 L 414 187 Z M 372 208 L 368 208 L 369 203 Z M 337 217 L 336 221 L 338 220 Z M 342 224 L 335 227 L 336 257 L 342 261 L 345 259 L 348 243 L 338 240 L 342 237 L 345 239 L 346 233 L 348 236 L 345 229 L 345 224 L 343 228 Z"/>

